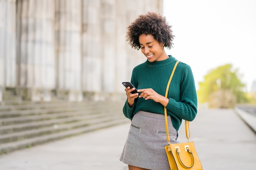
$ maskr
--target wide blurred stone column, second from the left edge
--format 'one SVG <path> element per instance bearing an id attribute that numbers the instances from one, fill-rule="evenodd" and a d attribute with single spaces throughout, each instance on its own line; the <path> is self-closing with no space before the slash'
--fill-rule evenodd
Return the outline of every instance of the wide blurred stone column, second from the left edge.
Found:
<path id="1" fill-rule="evenodd" d="M 55 87 L 54 0 L 17 1 L 18 91 L 50 100 Z"/>

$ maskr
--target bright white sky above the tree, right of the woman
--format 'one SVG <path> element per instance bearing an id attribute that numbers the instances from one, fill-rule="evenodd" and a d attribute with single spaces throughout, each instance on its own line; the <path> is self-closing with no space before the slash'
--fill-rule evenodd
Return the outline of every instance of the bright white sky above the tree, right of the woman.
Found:
<path id="1" fill-rule="evenodd" d="M 196 88 L 211 69 L 231 63 L 250 90 L 256 80 L 256 0 L 164 0 L 174 48 L 191 66 Z"/>

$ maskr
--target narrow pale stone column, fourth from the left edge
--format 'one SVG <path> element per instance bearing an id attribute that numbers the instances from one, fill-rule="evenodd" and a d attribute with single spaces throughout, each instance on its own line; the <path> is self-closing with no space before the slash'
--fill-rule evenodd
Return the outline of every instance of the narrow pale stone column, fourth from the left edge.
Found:
<path id="1" fill-rule="evenodd" d="M 101 1 L 82 1 L 82 86 L 83 91 L 102 91 Z"/>

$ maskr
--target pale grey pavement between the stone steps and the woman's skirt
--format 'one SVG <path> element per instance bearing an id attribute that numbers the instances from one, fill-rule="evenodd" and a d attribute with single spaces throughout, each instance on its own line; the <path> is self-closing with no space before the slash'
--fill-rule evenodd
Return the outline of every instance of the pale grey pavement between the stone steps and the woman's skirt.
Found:
<path id="1" fill-rule="evenodd" d="M 0 170 L 128 170 L 119 157 L 129 122 L 2 155 Z"/>

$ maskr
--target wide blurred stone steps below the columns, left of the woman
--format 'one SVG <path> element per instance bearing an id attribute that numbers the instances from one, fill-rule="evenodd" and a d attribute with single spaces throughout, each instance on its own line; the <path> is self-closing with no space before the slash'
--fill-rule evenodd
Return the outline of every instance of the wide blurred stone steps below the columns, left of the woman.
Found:
<path id="1" fill-rule="evenodd" d="M 4 103 L 0 105 L 0 155 L 130 122 L 123 105 L 124 101 Z"/>

